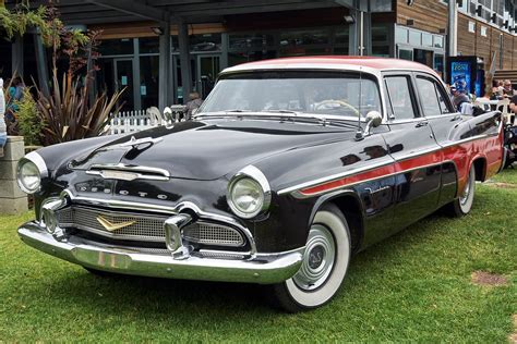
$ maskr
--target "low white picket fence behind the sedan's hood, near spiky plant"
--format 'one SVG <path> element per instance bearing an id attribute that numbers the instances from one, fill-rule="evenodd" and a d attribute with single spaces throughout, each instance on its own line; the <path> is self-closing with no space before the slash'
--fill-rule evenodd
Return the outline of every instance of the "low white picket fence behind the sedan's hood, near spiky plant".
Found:
<path id="1" fill-rule="evenodd" d="M 181 121 L 183 107 L 175 106 L 171 108 L 166 108 L 164 114 L 157 108 L 121 111 L 112 116 L 105 132 L 108 135 L 115 135 L 145 131 L 160 125 L 173 125 Z"/>

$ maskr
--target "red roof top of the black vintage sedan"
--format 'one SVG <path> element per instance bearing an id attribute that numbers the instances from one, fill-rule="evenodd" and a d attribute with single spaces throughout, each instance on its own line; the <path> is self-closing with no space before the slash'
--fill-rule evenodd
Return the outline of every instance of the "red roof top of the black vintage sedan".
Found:
<path id="1" fill-rule="evenodd" d="M 289 63 L 289 64 L 306 64 L 306 63 L 314 63 L 314 64 L 342 64 L 346 65 L 357 65 L 357 66 L 366 66 L 376 70 L 417 70 L 428 73 L 435 72 L 430 69 L 429 66 L 407 61 L 407 60 L 398 60 L 398 59 L 385 59 L 385 58 L 374 58 L 374 57 L 349 57 L 349 56 L 328 56 L 328 57 L 299 57 L 299 58 L 282 58 L 282 59 L 274 59 L 274 60 L 262 60 L 256 62 L 249 62 L 242 65 L 245 66 L 267 66 L 268 64 L 278 64 L 278 63 Z"/>

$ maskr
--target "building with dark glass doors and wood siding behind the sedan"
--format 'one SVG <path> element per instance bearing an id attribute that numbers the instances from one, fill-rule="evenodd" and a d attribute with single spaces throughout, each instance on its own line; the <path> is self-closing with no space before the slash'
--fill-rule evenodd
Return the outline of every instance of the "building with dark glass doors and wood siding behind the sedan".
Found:
<path id="1" fill-rule="evenodd" d="M 445 72 L 447 1 L 148 0 L 142 1 L 145 9 L 136 0 L 85 1 L 95 7 L 79 8 L 67 1 L 60 5 L 67 24 L 103 30 L 96 86 L 108 93 L 125 88 L 127 110 L 181 103 L 191 90 L 205 97 L 223 69 L 263 59 L 365 54 Z M 132 13 L 129 2 L 155 20 Z M 456 14 L 458 54 L 477 56 L 486 69 L 495 56 L 496 69 L 517 70 L 516 2 L 462 0 Z M 164 25 L 155 9 L 181 21 Z M 35 41 L 27 36 L 0 41 L 0 73 L 37 79 Z"/>

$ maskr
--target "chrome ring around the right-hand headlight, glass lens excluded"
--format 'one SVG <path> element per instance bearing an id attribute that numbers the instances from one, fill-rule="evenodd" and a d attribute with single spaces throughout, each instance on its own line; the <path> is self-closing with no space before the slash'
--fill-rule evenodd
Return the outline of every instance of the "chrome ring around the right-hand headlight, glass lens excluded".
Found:
<path id="1" fill-rule="evenodd" d="M 261 193 L 262 202 L 251 212 L 247 212 L 241 209 L 233 199 L 233 189 L 239 182 L 243 180 L 249 180 L 257 186 L 257 191 Z M 242 219 L 253 219 L 256 216 L 266 212 L 269 209 L 272 200 L 272 192 L 269 183 L 267 182 L 266 176 L 262 173 L 261 170 L 254 165 L 248 165 L 241 171 L 239 171 L 228 183 L 226 199 L 231 211 Z"/>

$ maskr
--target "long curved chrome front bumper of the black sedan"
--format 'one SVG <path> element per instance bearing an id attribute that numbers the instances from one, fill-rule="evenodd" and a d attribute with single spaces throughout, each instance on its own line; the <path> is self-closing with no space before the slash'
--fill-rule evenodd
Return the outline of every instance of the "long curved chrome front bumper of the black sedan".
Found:
<path id="1" fill-rule="evenodd" d="M 256 254 L 249 260 L 196 256 L 178 260 L 172 255 L 58 241 L 37 222 L 25 223 L 17 233 L 25 244 L 83 267 L 124 274 L 184 280 L 279 283 L 290 279 L 298 271 L 304 250 L 300 248 L 280 254 Z"/>

